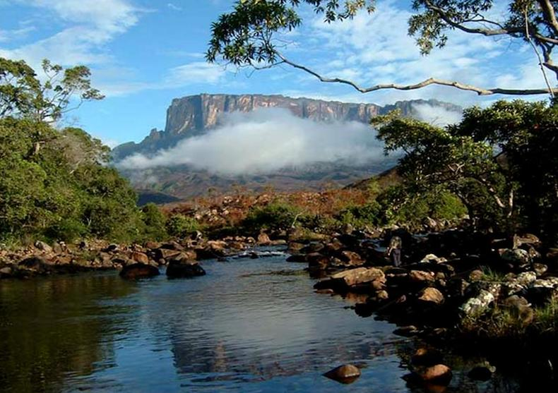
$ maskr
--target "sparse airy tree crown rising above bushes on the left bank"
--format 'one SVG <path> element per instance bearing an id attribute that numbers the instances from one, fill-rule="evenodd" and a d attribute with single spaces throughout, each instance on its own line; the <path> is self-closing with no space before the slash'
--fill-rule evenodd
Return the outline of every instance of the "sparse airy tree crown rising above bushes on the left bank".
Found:
<path id="1" fill-rule="evenodd" d="M 91 87 L 91 73 L 85 66 L 64 69 L 45 59 L 42 71 L 44 82 L 25 61 L 0 58 L 0 119 L 11 116 L 54 122 L 82 102 L 104 97 Z M 71 107 L 73 97 L 78 102 Z"/>

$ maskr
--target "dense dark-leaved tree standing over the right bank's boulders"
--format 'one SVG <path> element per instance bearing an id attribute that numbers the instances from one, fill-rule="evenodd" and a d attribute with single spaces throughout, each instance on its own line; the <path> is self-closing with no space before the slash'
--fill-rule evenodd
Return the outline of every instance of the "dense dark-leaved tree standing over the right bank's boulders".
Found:
<path id="1" fill-rule="evenodd" d="M 445 128 L 397 113 L 372 123 L 386 152 L 404 152 L 399 171 L 406 195 L 447 190 L 478 222 L 556 236 L 556 106 L 500 101 L 465 109 L 461 123 Z"/>

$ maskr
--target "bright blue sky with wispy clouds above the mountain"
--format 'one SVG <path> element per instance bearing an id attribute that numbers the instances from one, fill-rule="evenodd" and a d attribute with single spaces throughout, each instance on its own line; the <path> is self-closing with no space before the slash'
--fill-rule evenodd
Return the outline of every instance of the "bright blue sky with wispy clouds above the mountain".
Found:
<path id="1" fill-rule="evenodd" d="M 107 97 L 71 112 L 78 125 L 114 145 L 139 141 L 165 126 L 176 97 L 208 93 L 268 93 L 386 104 L 437 98 L 469 105 L 491 102 L 471 92 L 427 87 L 362 95 L 320 83 L 290 68 L 251 72 L 206 64 L 210 24 L 232 0 L 0 0 L 0 56 L 34 67 L 47 57 L 63 66 L 85 64 Z M 530 47 L 452 32 L 448 47 L 420 56 L 406 35 L 410 1 L 379 0 L 374 16 L 326 25 L 308 9 L 304 25 L 283 37 L 291 59 L 328 76 L 370 85 L 416 83 L 430 76 L 481 87 L 542 87 Z M 504 1 L 498 2 L 504 5 Z M 502 8 L 493 11 L 495 16 Z"/>

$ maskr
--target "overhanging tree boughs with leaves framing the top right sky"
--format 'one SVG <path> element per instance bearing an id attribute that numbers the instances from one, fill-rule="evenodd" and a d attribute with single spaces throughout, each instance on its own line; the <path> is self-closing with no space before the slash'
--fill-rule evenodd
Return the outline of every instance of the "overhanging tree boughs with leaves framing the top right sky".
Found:
<path id="1" fill-rule="evenodd" d="M 428 85 L 445 85 L 478 95 L 554 95 L 546 71 L 558 78 L 558 66 L 552 61 L 552 50 L 558 44 L 557 2 L 550 0 L 509 0 L 508 12 L 502 19 L 492 18 L 492 0 L 413 0 L 415 14 L 409 20 L 409 34 L 415 37 L 422 54 L 448 43 L 448 30 L 461 30 L 470 35 L 507 36 L 529 42 L 538 56 L 547 87 L 533 89 L 504 89 L 477 87 L 456 80 L 428 78 L 411 85 L 395 83 L 362 87 L 341 78 L 325 78 L 316 71 L 291 61 L 278 50 L 274 35 L 297 28 L 302 20 L 297 8 L 308 4 L 324 15 L 326 23 L 350 19 L 366 8 L 374 12 L 373 0 L 237 0 L 230 13 L 220 16 L 211 27 L 212 37 L 206 58 L 210 62 L 223 59 L 236 66 L 270 68 L 287 64 L 305 71 L 326 83 L 343 83 L 366 93 L 382 89 L 413 90 Z M 263 65 L 262 65 L 263 64 Z"/>

